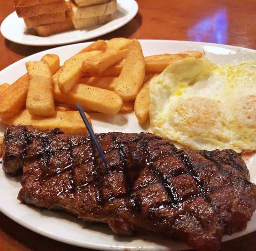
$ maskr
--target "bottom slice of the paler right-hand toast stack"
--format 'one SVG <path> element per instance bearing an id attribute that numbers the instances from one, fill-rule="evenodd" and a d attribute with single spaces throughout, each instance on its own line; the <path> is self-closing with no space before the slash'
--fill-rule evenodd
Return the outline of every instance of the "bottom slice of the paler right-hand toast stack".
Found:
<path id="1" fill-rule="evenodd" d="M 91 18 L 79 18 L 76 19 L 72 17 L 73 24 L 76 30 L 92 27 L 95 25 L 105 24 L 111 21 L 112 15 L 105 15 L 100 17 L 91 17 Z"/>

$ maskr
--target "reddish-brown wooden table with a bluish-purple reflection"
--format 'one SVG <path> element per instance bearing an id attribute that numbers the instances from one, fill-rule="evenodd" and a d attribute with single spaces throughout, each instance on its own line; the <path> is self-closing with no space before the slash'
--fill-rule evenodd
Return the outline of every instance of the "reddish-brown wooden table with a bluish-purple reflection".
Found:
<path id="1" fill-rule="evenodd" d="M 126 1 L 126 0 L 124 0 Z M 137 0 L 139 13 L 124 27 L 101 39 L 190 40 L 256 49 L 254 0 Z M 14 11 L 12 1 L 0 0 L 0 21 Z M 50 47 L 10 42 L 0 36 L 0 70 L 19 59 Z M 2 82 L 4 80 L 1 80 Z M 1 201 L 4 203 L 4 201 Z M 256 249 L 256 232 L 222 244 L 221 250 Z M 16 224 L 0 213 L 0 251 L 85 250 L 50 240 Z"/>

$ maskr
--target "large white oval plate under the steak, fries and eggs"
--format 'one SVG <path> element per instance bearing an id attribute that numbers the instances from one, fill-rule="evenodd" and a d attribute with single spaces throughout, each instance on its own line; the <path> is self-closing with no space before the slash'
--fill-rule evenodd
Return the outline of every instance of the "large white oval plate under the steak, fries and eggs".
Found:
<path id="1" fill-rule="evenodd" d="M 206 56 L 216 63 L 228 63 L 234 60 L 255 59 L 256 51 L 200 42 L 187 41 L 161 41 L 161 40 L 141 40 L 144 55 L 161 53 L 176 53 L 180 51 L 199 50 L 203 47 Z M 1 83 L 12 83 L 26 72 L 25 62 L 40 60 L 46 53 L 56 53 L 63 63 L 71 55 L 84 48 L 88 43 L 68 45 L 53 48 L 44 52 L 24 58 L 0 73 Z M 217 55 L 216 53 L 221 53 Z M 228 55 L 230 54 L 230 55 Z M 115 116 L 103 116 L 91 114 L 92 124 L 95 132 L 140 132 L 149 131 L 149 125 L 141 127 L 137 122 L 134 113 L 119 114 Z M 0 123 L 0 132 L 4 133 L 6 126 Z M 245 157 L 246 164 L 251 174 L 251 181 L 256 182 L 256 155 Z M 105 224 L 88 224 L 75 216 L 62 212 L 50 210 L 40 210 L 33 206 L 21 204 L 17 200 L 18 192 L 21 188 L 18 182 L 20 178 L 11 178 L 0 170 L 0 198 L 4 203 L 0 203 L 0 210 L 36 233 L 59 240 L 68 244 L 100 250 L 181 250 L 188 248 L 184 243 L 175 243 L 167 238 L 156 236 L 151 233 L 141 233 L 136 237 L 117 237 Z M 256 230 L 256 214 L 248 223 L 247 229 L 243 232 L 224 236 L 223 240 L 230 240 L 238 236 L 251 233 Z"/>

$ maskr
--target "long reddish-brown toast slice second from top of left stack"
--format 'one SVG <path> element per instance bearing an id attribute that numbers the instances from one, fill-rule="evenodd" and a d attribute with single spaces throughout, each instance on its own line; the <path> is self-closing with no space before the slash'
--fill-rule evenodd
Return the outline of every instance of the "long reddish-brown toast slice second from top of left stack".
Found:
<path id="1" fill-rule="evenodd" d="M 16 13 L 20 18 L 28 18 L 28 17 L 35 17 L 40 16 L 43 14 L 52 14 L 52 13 L 59 13 L 65 12 L 67 10 L 67 5 L 65 1 L 62 0 L 60 2 L 52 3 L 52 4 L 38 4 L 33 6 L 27 7 L 17 7 Z"/>

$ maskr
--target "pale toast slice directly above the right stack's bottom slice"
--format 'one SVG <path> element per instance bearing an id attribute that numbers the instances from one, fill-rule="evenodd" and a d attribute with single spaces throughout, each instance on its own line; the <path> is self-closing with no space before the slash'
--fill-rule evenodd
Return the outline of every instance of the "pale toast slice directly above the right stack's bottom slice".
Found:
<path id="1" fill-rule="evenodd" d="M 73 15 L 76 19 L 106 16 L 117 11 L 117 2 L 112 0 L 105 4 L 94 5 L 90 7 L 78 7 L 71 2 Z"/>

